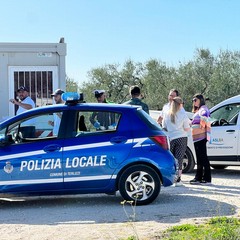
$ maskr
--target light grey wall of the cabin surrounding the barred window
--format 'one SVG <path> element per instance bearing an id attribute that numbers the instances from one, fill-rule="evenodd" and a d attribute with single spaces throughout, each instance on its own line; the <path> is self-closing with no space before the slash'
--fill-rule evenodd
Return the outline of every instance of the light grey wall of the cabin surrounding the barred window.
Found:
<path id="1" fill-rule="evenodd" d="M 9 84 L 9 67 L 57 67 L 55 86 L 66 88 L 66 44 L 61 43 L 0 43 L 0 121 L 8 117 L 9 99 L 14 95 Z M 11 83 L 11 82 L 10 82 Z"/>

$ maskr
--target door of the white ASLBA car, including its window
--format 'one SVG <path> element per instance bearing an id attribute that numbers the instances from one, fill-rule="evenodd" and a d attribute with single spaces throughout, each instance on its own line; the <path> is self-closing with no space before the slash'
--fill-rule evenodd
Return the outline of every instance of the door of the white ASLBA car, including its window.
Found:
<path id="1" fill-rule="evenodd" d="M 228 104 L 211 113 L 211 141 L 207 153 L 212 164 L 237 161 L 239 154 L 239 104 Z"/>

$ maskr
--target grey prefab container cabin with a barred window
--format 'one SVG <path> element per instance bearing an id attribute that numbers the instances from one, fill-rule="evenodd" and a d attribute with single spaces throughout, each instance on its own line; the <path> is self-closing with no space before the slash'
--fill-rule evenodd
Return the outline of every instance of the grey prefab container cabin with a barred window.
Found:
<path id="1" fill-rule="evenodd" d="M 52 104 L 51 93 L 66 88 L 66 44 L 0 43 L 0 121 L 15 115 L 17 89 L 26 86 L 36 106 Z"/>

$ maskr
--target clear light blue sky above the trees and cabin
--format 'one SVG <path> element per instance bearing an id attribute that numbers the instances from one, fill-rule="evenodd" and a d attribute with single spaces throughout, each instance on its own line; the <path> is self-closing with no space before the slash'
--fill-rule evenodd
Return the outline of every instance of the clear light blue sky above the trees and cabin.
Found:
<path id="1" fill-rule="evenodd" d="M 0 42 L 67 44 L 80 85 L 106 64 L 150 59 L 177 66 L 197 48 L 240 48 L 239 0 L 0 0 Z"/>

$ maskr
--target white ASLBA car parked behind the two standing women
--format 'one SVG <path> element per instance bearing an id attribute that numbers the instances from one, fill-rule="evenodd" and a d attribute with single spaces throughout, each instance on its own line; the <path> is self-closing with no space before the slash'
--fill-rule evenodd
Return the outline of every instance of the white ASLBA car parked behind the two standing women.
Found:
<path id="1" fill-rule="evenodd" d="M 207 143 L 207 155 L 212 168 L 240 166 L 240 95 L 228 98 L 210 109 L 211 140 Z M 161 111 L 150 110 L 157 120 Z M 187 112 L 189 118 L 192 113 Z M 196 154 L 192 137 L 188 137 L 188 147 L 183 160 L 183 172 L 191 172 L 196 164 Z"/>

